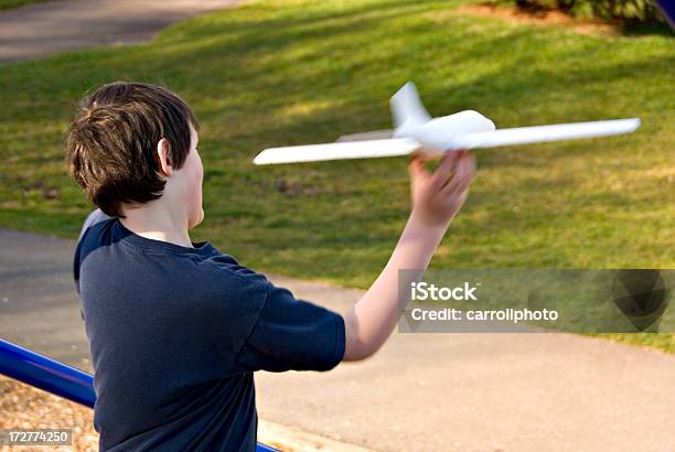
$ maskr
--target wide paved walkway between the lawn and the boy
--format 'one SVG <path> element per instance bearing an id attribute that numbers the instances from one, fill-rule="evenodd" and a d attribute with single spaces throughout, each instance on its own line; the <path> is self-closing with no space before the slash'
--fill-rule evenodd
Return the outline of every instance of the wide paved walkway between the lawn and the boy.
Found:
<path id="1" fill-rule="evenodd" d="M 0 331 L 89 369 L 73 247 L 0 229 Z M 341 312 L 361 294 L 272 280 Z M 675 356 L 577 335 L 395 333 L 365 363 L 256 381 L 262 419 L 383 451 L 675 450 Z"/>

